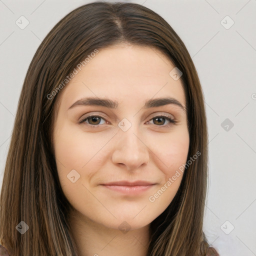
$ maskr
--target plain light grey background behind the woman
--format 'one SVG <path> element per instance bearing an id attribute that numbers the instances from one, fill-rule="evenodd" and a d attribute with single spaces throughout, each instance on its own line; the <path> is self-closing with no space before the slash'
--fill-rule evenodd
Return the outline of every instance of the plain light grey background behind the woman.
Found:
<path id="1" fill-rule="evenodd" d="M 28 65 L 50 29 L 88 2 L 0 0 L 0 184 Z M 256 0 L 130 2 L 169 22 L 202 84 L 209 135 L 207 238 L 221 256 L 256 255 Z M 21 15 L 29 21 L 24 29 L 15 24 Z"/>

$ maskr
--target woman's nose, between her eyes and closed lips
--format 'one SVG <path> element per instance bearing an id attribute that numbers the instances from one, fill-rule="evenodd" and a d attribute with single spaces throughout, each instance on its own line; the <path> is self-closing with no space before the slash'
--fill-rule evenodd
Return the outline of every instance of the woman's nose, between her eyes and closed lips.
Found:
<path id="1" fill-rule="evenodd" d="M 128 130 L 118 130 L 114 141 L 112 162 L 128 170 L 136 170 L 149 161 L 149 148 L 138 129 L 132 125 Z"/>

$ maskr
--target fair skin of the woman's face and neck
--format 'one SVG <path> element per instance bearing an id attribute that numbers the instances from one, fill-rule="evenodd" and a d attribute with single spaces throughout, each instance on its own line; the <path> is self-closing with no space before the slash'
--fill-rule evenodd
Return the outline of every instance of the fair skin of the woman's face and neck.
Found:
<path id="1" fill-rule="evenodd" d="M 177 192 L 182 173 L 153 202 L 148 199 L 186 162 L 186 113 L 175 104 L 143 108 L 145 100 L 166 96 L 185 107 L 181 79 L 172 79 L 172 68 L 160 51 L 117 44 L 100 49 L 61 91 L 53 147 L 62 190 L 73 206 L 70 226 L 81 256 L 146 255 L 149 224 Z M 69 108 L 87 96 L 108 97 L 119 106 Z M 103 118 L 78 123 L 90 114 Z M 167 119 L 157 122 L 154 117 L 160 114 L 174 118 L 176 124 Z M 126 131 L 118 127 L 123 118 L 131 123 Z M 72 169 L 80 175 L 74 183 L 67 178 Z M 156 184 L 137 195 L 100 185 L 118 180 Z M 119 227 L 123 221 L 128 223 L 127 232 Z"/>

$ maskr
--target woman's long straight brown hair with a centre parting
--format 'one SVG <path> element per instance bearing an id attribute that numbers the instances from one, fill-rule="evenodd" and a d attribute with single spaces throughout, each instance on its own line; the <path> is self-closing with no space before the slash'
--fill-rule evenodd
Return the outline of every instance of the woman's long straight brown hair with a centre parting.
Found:
<path id="1" fill-rule="evenodd" d="M 94 2 L 74 9 L 51 29 L 25 76 L 0 195 L 0 243 L 12 256 L 78 256 L 68 222 L 71 205 L 52 152 L 54 109 L 64 90 L 62 82 L 77 63 L 95 49 L 120 42 L 158 49 L 182 71 L 190 138 L 187 160 L 200 152 L 186 166 L 171 203 L 151 222 L 148 255 L 206 254 L 209 244 L 202 224 L 208 138 L 203 94 L 191 57 L 154 11 L 135 3 Z M 20 221 L 29 228 L 23 234 L 16 228 Z"/>

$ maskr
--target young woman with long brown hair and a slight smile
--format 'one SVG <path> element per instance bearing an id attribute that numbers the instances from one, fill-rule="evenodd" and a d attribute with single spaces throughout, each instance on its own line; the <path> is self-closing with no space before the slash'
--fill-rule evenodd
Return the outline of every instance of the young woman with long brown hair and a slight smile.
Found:
<path id="1" fill-rule="evenodd" d="M 85 4 L 28 68 L 0 243 L 12 256 L 218 255 L 202 232 L 206 178 L 203 95 L 181 39 L 139 4 Z"/>

